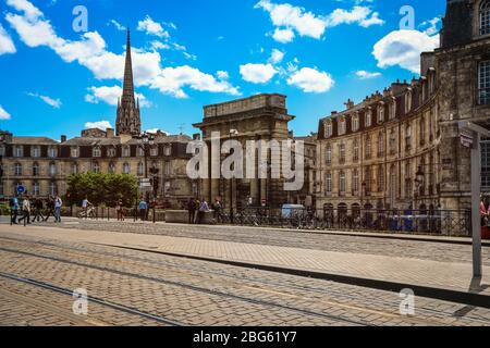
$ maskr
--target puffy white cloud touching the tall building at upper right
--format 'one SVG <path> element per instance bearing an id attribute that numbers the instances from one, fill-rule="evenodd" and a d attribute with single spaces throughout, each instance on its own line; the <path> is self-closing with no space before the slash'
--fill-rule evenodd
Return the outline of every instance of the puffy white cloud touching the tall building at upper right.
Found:
<path id="1" fill-rule="evenodd" d="M 395 30 L 379 40 L 372 50 L 379 67 L 400 65 L 420 73 L 420 53 L 439 47 L 439 35 L 418 30 Z"/>

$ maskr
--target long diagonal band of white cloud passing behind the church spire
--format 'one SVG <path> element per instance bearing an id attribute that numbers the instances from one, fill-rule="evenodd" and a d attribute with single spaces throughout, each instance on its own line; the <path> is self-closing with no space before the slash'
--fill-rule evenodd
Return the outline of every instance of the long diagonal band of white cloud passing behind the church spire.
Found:
<path id="1" fill-rule="evenodd" d="M 90 70 L 98 79 L 122 79 L 125 53 L 117 54 L 108 51 L 106 41 L 97 32 L 85 33 L 76 41 L 66 40 L 57 35 L 42 12 L 27 0 L 8 0 L 7 3 L 23 12 L 23 14 L 8 12 L 5 20 L 28 47 L 49 47 L 63 61 L 77 62 Z M 145 30 L 155 33 L 157 36 L 166 36 L 158 26 L 150 23 L 150 20 L 147 17 L 146 22 L 142 21 L 145 23 L 142 24 Z M 174 44 L 173 47 L 176 50 L 185 51 L 185 47 L 177 44 Z M 186 96 L 183 90 L 185 87 L 199 91 L 240 95 L 237 87 L 228 82 L 218 80 L 210 74 L 188 65 L 162 67 L 161 61 L 159 52 L 133 48 L 135 85 L 159 89 L 163 94 L 177 98 Z M 166 84 L 168 85 L 166 86 Z"/>

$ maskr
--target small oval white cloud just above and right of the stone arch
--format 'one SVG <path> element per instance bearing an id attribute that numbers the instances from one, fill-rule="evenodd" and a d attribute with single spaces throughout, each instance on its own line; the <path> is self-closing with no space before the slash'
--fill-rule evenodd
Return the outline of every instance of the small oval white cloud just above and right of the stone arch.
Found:
<path id="1" fill-rule="evenodd" d="M 321 94 L 330 90 L 334 85 L 334 80 L 326 72 L 303 67 L 287 79 L 287 85 L 296 86 L 304 92 Z"/>

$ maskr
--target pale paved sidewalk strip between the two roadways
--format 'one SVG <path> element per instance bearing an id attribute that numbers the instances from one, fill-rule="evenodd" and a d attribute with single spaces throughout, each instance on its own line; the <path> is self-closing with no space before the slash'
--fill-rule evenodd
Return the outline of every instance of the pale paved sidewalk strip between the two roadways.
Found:
<path id="1" fill-rule="evenodd" d="M 470 289 L 469 263 L 73 228 L 36 226 L 26 229 L 0 225 L 0 234 L 133 248 L 315 277 L 324 275 L 324 278 L 356 285 L 372 284 L 373 287 L 382 288 L 380 285 L 384 284 L 387 289 L 392 290 L 412 287 L 416 294 L 431 290 L 433 296 L 440 295 L 446 299 L 446 296 L 464 297 L 478 294 L 476 296 L 480 300 L 485 299 L 490 303 L 490 266 L 483 268 L 485 277 L 481 285 L 474 285 Z"/>

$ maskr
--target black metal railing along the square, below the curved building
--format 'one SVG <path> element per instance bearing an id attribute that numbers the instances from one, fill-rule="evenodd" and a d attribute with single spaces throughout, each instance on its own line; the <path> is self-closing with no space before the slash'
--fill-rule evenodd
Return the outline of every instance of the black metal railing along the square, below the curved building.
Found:
<path id="1" fill-rule="evenodd" d="M 408 234 L 470 236 L 469 210 L 366 210 L 247 208 L 234 214 L 236 225 L 297 229 L 372 231 Z M 231 223 L 221 213 L 217 223 Z"/>

